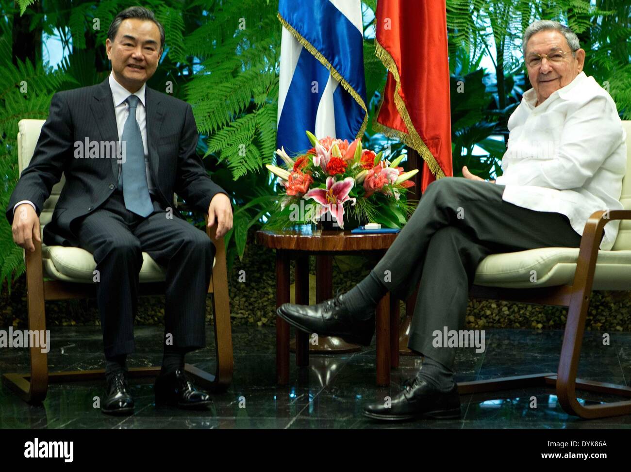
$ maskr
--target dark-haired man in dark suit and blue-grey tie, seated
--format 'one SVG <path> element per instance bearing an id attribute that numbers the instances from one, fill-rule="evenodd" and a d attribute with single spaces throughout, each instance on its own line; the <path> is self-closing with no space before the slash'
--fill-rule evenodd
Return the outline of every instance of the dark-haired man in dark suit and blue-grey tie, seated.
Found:
<path id="1" fill-rule="evenodd" d="M 156 404 L 198 408 L 211 402 L 184 374 L 184 355 L 205 345 L 206 293 L 216 249 L 173 201 L 177 193 L 208 212 L 217 237 L 232 228 L 232 203 L 196 154 L 191 105 L 145 85 L 164 40 L 162 25 L 146 8 L 128 8 L 114 18 L 105 42 L 112 73 L 98 85 L 52 97 L 49 118 L 6 213 L 16 244 L 34 251 L 33 239 L 40 241 L 38 216 L 64 173 L 66 184 L 44 227 L 44 244 L 82 247 L 97 263 L 107 379 L 103 413 L 129 414 L 134 407 L 126 357 L 134 351 L 143 251 L 167 269 Z M 120 143 L 118 153 L 109 147 L 113 143 Z"/>

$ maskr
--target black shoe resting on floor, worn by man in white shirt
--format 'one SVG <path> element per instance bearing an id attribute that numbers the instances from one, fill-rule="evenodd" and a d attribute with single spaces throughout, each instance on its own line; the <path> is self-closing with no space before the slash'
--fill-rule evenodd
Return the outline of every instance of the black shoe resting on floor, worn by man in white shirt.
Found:
<path id="1" fill-rule="evenodd" d="M 385 402 L 367 404 L 363 415 L 389 421 L 459 418 L 458 386 L 454 384 L 449 392 L 440 392 L 417 375 L 412 381 L 406 381 L 405 389 L 392 398 L 389 408 Z"/>

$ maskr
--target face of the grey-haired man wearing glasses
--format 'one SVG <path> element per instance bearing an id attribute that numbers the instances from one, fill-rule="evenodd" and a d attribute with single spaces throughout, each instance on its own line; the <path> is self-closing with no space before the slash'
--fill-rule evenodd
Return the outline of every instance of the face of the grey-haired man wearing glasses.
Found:
<path id="1" fill-rule="evenodd" d="M 537 105 L 541 105 L 558 89 L 568 85 L 581 73 L 585 63 L 585 51 L 579 49 L 572 56 L 572 48 L 567 43 L 563 33 L 557 30 L 545 30 L 535 33 L 526 44 L 526 69 L 528 78 L 537 94 Z M 550 61 L 543 57 L 540 64 L 531 67 L 528 59 L 531 54 L 553 54 L 554 52 L 569 52 L 560 62 Z"/>

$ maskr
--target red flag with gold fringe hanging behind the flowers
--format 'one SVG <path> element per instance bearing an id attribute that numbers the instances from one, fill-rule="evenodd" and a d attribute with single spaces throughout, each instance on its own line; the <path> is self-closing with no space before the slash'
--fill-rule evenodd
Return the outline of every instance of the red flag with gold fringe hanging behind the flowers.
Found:
<path id="1" fill-rule="evenodd" d="M 421 191 L 453 174 L 445 0 L 379 0 L 375 54 L 388 69 L 374 128 L 423 158 Z"/>

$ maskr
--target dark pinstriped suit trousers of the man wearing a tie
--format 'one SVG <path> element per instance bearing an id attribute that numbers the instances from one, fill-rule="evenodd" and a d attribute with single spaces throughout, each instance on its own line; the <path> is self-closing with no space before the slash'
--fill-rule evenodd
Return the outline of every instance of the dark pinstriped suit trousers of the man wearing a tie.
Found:
<path id="1" fill-rule="evenodd" d="M 73 222 L 79 247 L 97 263 L 97 304 L 107 357 L 134 351 L 142 252 L 166 268 L 165 340 L 175 348 L 206 345 L 206 294 L 216 249 L 205 232 L 167 213 L 153 199 L 144 218 L 125 208 L 122 192 Z M 171 336 L 168 336 L 171 335 Z"/>

